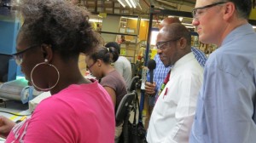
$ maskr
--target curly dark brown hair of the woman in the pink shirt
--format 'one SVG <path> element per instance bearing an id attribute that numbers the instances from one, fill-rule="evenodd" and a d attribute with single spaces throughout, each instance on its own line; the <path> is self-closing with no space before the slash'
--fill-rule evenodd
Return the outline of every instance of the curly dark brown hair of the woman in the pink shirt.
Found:
<path id="1" fill-rule="evenodd" d="M 89 23 L 90 13 L 67 0 L 20 0 L 22 40 L 49 44 L 63 60 L 90 54 L 101 42 Z"/>

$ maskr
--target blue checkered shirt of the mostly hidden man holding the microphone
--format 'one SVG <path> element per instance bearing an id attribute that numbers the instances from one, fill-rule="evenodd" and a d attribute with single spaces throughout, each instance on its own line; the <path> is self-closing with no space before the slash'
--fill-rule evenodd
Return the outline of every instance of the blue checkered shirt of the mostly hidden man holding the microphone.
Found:
<path id="1" fill-rule="evenodd" d="M 191 51 L 195 55 L 195 59 L 199 62 L 199 64 L 204 67 L 207 61 L 207 56 L 204 54 L 200 49 L 196 49 L 194 47 L 191 47 Z M 154 60 L 156 63 L 155 69 L 154 69 L 154 82 L 156 84 L 156 95 L 158 94 L 158 91 L 160 90 L 160 85 L 164 82 L 164 79 L 166 78 L 167 73 L 170 71 L 171 67 L 164 66 L 163 62 L 160 60 L 159 54 L 156 54 L 154 56 Z M 149 74 L 147 74 L 147 81 L 150 81 Z M 157 98 L 157 97 L 154 97 Z"/>

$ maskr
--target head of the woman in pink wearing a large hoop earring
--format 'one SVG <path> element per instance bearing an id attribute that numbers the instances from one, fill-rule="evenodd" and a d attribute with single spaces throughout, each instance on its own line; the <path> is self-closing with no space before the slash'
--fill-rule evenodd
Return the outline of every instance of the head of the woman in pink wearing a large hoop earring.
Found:
<path id="1" fill-rule="evenodd" d="M 89 12 L 63 0 L 22 0 L 19 9 L 24 24 L 15 60 L 29 83 L 51 94 L 82 83 L 79 54 L 89 54 L 99 44 Z"/>

